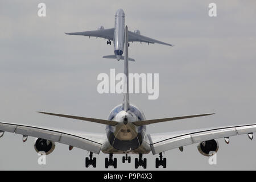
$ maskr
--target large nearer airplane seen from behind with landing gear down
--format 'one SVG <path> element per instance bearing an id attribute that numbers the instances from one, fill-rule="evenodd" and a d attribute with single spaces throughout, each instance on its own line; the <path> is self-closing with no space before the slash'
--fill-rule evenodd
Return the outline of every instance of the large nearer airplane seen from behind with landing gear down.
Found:
<path id="1" fill-rule="evenodd" d="M 125 27 L 125 84 L 126 90 L 129 90 L 129 71 L 128 71 L 128 43 L 129 31 Z M 247 134 L 249 139 L 253 139 L 253 133 L 256 131 L 256 124 L 222 126 L 207 129 L 196 129 L 187 131 L 174 131 L 167 133 L 147 134 L 146 126 L 159 122 L 176 121 L 178 119 L 203 117 L 209 114 L 186 115 L 181 117 L 146 119 L 142 110 L 130 104 L 129 92 L 123 93 L 123 102 L 115 106 L 110 111 L 108 119 L 97 119 L 88 117 L 79 117 L 75 115 L 48 113 L 39 111 L 39 113 L 55 115 L 58 117 L 79 119 L 81 121 L 95 122 L 106 125 L 106 133 L 88 133 L 73 130 L 52 129 L 49 127 L 38 127 L 20 125 L 16 123 L 0 122 L 0 138 L 6 132 L 22 135 L 23 142 L 26 142 L 28 136 L 36 137 L 34 148 L 36 152 L 44 152 L 48 155 L 53 152 L 56 142 L 67 144 L 69 150 L 73 147 L 89 151 L 89 158 L 85 158 L 85 167 L 96 167 L 96 158 L 94 154 L 108 154 L 105 158 L 105 168 L 113 166 L 117 168 L 117 158 L 113 154 L 124 155 L 122 162 L 131 163 L 131 157 L 128 155 L 139 155 L 135 158 L 135 168 L 139 166 L 146 168 L 147 159 L 143 155 L 152 152 L 153 155 L 159 154 L 155 159 L 155 167 L 162 166 L 166 168 L 166 158 L 163 158 L 163 152 L 179 148 L 182 152 L 184 146 L 197 143 L 197 150 L 204 156 L 211 156 L 218 151 L 219 145 L 216 139 L 224 138 L 229 143 L 229 137 L 235 135 Z"/>

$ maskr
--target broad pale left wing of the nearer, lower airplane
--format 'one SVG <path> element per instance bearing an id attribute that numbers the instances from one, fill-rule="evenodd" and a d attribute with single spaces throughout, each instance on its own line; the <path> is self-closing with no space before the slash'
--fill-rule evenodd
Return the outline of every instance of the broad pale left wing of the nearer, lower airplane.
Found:
<path id="1" fill-rule="evenodd" d="M 14 123 L 0 122 L 0 131 L 15 134 L 38 137 L 81 148 L 96 154 L 101 151 L 101 145 L 106 141 L 106 134 L 84 133 L 79 131 L 61 131 L 46 127 L 18 125 Z"/>

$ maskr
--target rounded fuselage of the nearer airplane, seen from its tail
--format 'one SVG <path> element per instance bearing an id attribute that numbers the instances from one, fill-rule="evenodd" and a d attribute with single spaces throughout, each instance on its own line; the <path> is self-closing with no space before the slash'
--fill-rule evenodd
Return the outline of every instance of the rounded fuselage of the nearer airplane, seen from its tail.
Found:
<path id="1" fill-rule="evenodd" d="M 108 120 L 118 121 L 116 126 L 106 126 L 108 142 L 102 146 L 104 153 L 148 154 L 150 146 L 147 142 L 146 126 L 135 126 L 134 121 L 144 120 L 144 114 L 137 107 L 130 105 L 123 110 L 122 105 L 114 107 Z"/>

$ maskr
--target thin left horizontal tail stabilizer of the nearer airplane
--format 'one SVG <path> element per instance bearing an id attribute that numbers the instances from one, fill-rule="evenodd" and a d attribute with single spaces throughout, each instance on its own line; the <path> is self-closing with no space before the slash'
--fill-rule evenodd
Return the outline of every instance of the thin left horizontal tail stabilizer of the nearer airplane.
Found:
<path id="1" fill-rule="evenodd" d="M 55 116 L 64 117 L 64 118 L 79 119 L 79 120 L 82 120 L 82 121 L 90 121 L 90 122 L 94 122 L 94 123 L 101 123 L 101 124 L 104 124 L 104 125 L 111 125 L 111 126 L 115 126 L 118 123 L 117 121 L 110 121 L 110 120 L 96 119 L 96 118 L 85 118 L 85 117 L 79 117 L 79 116 L 75 116 L 75 115 L 46 113 L 46 112 L 40 112 L 40 111 L 38 113 L 48 114 L 48 115 L 55 115 Z"/>

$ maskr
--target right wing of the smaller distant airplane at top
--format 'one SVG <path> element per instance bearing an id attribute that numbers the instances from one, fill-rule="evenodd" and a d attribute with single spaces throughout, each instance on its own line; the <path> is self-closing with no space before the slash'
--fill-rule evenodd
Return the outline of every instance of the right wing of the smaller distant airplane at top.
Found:
<path id="1" fill-rule="evenodd" d="M 167 45 L 167 46 L 174 46 L 172 44 L 168 44 L 165 42 L 161 42 L 159 40 L 151 39 L 146 36 L 131 32 L 131 31 L 128 31 L 128 39 L 129 39 L 129 42 L 146 42 L 148 44 L 158 43 L 158 44 L 163 44 L 163 45 Z"/>

